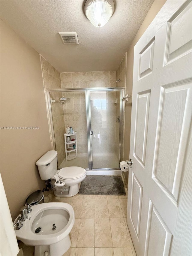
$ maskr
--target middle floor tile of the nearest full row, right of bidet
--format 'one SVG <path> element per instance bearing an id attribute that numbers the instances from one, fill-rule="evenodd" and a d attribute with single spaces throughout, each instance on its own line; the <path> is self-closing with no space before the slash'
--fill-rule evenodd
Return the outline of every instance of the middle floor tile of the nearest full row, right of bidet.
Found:
<path id="1" fill-rule="evenodd" d="M 95 247 L 113 247 L 109 218 L 95 219 Z"/>

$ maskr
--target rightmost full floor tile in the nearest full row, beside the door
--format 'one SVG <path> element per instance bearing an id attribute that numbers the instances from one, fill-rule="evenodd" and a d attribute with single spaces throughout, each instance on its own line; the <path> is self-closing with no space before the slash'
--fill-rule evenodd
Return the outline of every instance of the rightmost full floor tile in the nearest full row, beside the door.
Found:
<path id="1" fill-rule="evenodd" d="M 131 247 L 124 218 L 110 218 L 113 247 Z"/>

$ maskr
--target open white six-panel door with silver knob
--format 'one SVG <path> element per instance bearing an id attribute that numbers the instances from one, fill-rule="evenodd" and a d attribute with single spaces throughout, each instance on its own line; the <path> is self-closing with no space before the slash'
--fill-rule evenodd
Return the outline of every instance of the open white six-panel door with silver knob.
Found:
<path id="1" fill-rule="evenodd" d="M 134 49 L 127 222 L 137 255 L 192 255 L 192 2 L 167 1 Z"/>

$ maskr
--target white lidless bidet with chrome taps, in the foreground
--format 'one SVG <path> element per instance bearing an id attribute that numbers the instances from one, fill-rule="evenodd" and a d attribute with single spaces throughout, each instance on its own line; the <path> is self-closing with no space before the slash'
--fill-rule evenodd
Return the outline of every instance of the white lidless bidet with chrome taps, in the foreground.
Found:
<path id="1" fill-rule="evenodd" d="M 22 222 L 23 227 L 15 230 L 17 239 L 35 246 L 35 256 L 44 255 L 46 251 L 50 256 L 63 255 L 71 245 L 69 233 L 75 221 L 73 207 L 68 203 L 41 203 L 32 209 L 28 219 Z"/>

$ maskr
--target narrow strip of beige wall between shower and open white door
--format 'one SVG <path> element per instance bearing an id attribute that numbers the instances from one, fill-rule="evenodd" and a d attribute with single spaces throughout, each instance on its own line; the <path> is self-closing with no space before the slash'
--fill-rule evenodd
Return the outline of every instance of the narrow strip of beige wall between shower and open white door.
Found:
<path id="1" fill-rule="evenodd" d="M 134 46 L 143 33 L 146 31 L 152 20 L 158 14 L 166 1 L 155 0 L 150 8 L 145 20 L 140 26 L 137 35 L 135 36 L 131 46 L 127 51 L 127 74 L 126 74 L 126 94 L 132 95 L 133 86 L 133 62 L 134 62 Z M 129 159 L 129 146 L 130 146 L 130 131 L 131 131 L 131 99 L 125 105 L 125 140 L 124 140 L 124 160 Z M 128 172 L 124 173 L 126 176 L 126 183 L 128 182 Z"/>

